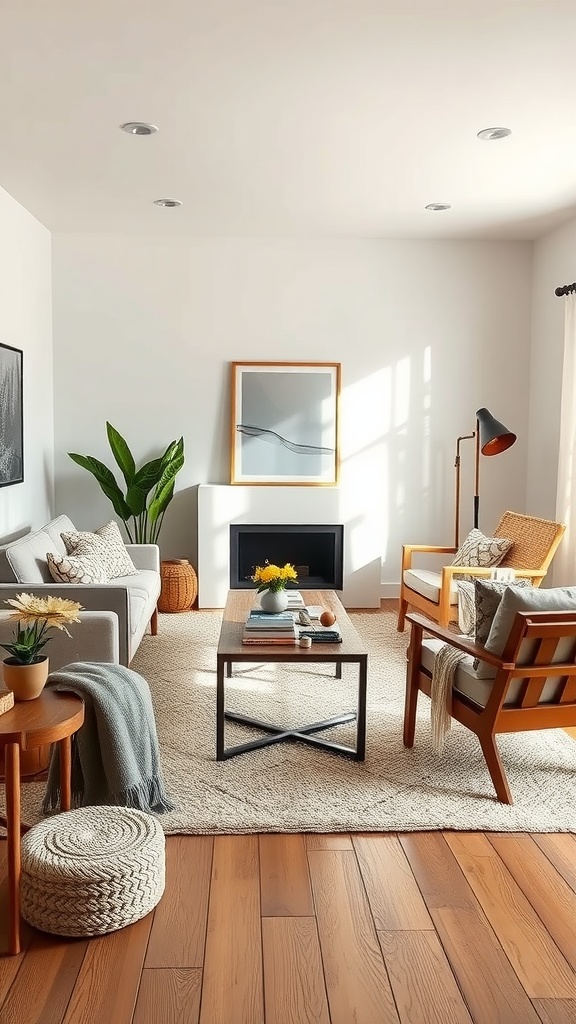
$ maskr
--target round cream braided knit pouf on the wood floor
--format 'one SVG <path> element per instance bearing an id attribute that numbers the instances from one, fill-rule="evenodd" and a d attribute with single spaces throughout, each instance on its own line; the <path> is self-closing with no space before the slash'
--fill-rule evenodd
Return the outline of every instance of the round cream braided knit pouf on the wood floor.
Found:
<path id="1" fill-rule="evenodd" d="M 22 915 L 53 935 L 104 935 L 149 913 L 164 892 L 164 833 L 131 807 L 81 807 L 22 840 Z"/>

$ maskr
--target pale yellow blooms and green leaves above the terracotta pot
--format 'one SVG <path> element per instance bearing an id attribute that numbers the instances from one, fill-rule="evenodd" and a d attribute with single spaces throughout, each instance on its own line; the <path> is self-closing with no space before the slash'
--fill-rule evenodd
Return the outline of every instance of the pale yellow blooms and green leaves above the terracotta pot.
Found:
<path id="1" fill-rule="evenodd" d="M 51 639 L 48 636 L 51 629 L 64 630 L 71 637 L 67 625 L 80 622 L 78 612 L 82 608 L 78 601 L 36 594 L 17 594 L 4 604 L 16 609 L 8 617 L 16 620 L 17 626 L 13 643 L 0 643 L 0 647 L 8 651 L 16 665 L 34 665 L 45 656 L 42 650 Z"/>

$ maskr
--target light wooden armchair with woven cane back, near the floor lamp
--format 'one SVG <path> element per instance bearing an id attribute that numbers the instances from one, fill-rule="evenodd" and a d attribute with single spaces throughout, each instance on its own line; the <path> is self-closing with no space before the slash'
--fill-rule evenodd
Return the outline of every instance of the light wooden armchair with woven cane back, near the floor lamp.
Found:
<path id="1" fill-rule="evenodd" d="M 554 552 L 563 538 L 566 526 L 551 519 L 522 515 L 519 512 L 504 512 L 493 537 L 506 537 L 513 545 L 498 567 L 513 568 L 517 577 L 526 577 L 534 587 L 539 587 L 544 579 Z M 402 549 L 402 572 L 400 582 L 400 607 L 398 629 L 402 633 L 409 607 L 423 611 L 440 626 L 448 626 L 458 617 L 459 575 L 475 575 L 489 579 L 491 568 L 475 565 L 444 565 L 440 571 L 414 569 L 412 559 L 415 554 L 456 554 L 456 548 L 439 548 L 424 544 L 405 544 Z"/>

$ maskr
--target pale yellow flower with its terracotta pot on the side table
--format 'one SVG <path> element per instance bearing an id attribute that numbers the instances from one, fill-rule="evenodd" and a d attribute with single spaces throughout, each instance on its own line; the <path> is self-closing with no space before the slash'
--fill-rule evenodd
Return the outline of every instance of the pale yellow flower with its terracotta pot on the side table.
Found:
<path id="1" fill-rule="evenodd" d="M 9 617 L 17 621 L 13 643 L 0 644 L 10 655 L 3 662 L 4 683 L 14 700 L 33 700 L 48 678 L 48 657 L 42 650 L 51 639 L 50 630 L 64 630 L 71 636 L 67 624 L 80 622 L 82 605 L 61 597 L 34 594 L 18 594 L 4 603 L 16 609 Z"/>

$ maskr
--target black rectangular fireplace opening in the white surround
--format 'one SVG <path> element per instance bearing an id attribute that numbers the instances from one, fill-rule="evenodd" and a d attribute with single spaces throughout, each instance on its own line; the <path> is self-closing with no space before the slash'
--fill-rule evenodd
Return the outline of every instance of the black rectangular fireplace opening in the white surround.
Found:
<path id="1" fill-rule="evenodd" d="M 341 590 L 344 527 L 332 525 L 231 525 L 230 586 L 252 588 L 256 565 L 289 562 L 298 573 L 293 590 Z"/>

